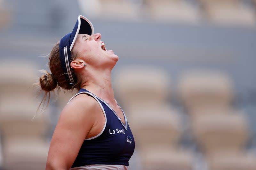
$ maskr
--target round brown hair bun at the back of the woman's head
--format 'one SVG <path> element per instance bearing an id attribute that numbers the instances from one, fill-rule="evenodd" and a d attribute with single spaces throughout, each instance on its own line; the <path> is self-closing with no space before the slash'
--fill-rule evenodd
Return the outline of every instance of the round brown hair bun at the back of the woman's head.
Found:
<path id="1" fill-rule="evenodd" d="M 52 74 L 44 70 L 44 75 L 39 78 L 39 82 L 42 90 L 46 92 L 50 92 L 57 87 L 57 80 L 54 78 Z"/>

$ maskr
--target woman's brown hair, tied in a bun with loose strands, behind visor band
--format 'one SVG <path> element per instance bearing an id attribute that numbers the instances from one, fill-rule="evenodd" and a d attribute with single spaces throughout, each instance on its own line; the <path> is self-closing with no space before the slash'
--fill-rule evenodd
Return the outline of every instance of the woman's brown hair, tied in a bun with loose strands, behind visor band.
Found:
<path id="1" fill-rule="evenodd" d="M 40 108 L 40 106 L 43 104 L 43 107 L 47 101 L 47 104 L 45 107 L 47 107 L 49 105 L 49 101 L 50 101 L 50 92 L 53 91 L 54 89 L 57 88 L 58 92 L 60 91 L 60 87 L 66 90 L 79 90 L 80 89 L 80 85 L 81 85 L 81 78 L 76 75 L 76 83 L 74 83 L 73 85 L 69 85 L 68 80 L 66 79 L 66 75 L 67 73 L 63 74 L 63 70 L 61 67 L 61 62 L 60 62 L 60 53 L 59 53 L 59 45 L 60 42 L 56 43 L 56 45 L 54 45 L 54 47 L 52 48 L 51 53 L 49 54 L 49 68 L 52 72 L 52 74 L 50 74 L 48 71 L 46 70 L 41 70 L 42 73 L 44 73 L 40 78 L 39 78 L 39 82 L 35 83 L 36 86 L 41 86 L 41 90 L 40 92 L 44 91 L 44 97 L 38 107 L 38 109 Z M 74 55 L 73 52 L 71 52 L 71 58 L 72 60 L 74 60 L 76 58 L 76 56 Z M 71 72 L 73 73 L 73 69 L 71 70 Z M 73 74 L 74 75 L 74 74 Z M 48 96 L 48 97 L 47 97 Z"/>

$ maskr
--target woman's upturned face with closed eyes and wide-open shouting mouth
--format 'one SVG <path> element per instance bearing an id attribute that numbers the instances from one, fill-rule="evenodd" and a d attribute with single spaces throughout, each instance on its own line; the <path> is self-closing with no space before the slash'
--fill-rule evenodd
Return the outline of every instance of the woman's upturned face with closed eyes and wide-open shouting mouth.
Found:
<path id="1" fill-rule="evenodd" d="M 101 34 L 78 34 L 72 52 L 76 57 L 83 59 L 94 67 L 114 67 L 118 56 L 112 50 L 106 50 L 100 40 Z"/>

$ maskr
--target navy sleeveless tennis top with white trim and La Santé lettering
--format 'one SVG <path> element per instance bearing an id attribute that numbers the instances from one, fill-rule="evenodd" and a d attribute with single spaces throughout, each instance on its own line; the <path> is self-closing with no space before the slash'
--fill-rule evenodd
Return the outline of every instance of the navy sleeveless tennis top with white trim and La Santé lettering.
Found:
<path id="1" fill-rule="evenodd" d="M 75 96 L 81 93 L 97 100 L 105 116 L 105 125 L 97 136 L 84 140 L 71 168 L 95 164 L 129 166 L 135 143 L 124 111 L 121 109 L 125 124 L 107 102 L 85 89 L 80 89 Z"/>

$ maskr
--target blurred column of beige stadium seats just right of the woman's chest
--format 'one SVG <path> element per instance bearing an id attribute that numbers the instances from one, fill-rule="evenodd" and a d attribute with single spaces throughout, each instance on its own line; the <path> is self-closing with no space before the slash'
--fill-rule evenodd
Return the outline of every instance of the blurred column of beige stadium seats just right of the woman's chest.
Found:
<path id="1" fill-rule="evenodd" d="M 168 102 L 168 74 L 141 66 L 123 68 L 118 76 L 116 91 L 127 104 L 142 169 L 192 169 L 192 153 L 179 146 L 182 127 Z"/>

